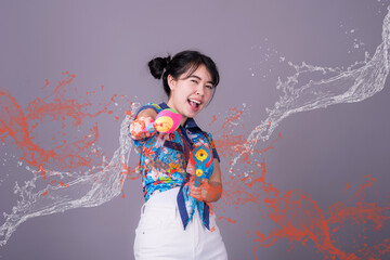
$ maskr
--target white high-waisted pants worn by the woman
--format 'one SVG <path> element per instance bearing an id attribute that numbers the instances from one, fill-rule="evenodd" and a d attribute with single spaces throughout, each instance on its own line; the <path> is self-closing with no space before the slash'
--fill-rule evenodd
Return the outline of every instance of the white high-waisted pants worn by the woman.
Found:
<path id="1" fill-rule="evenodd" d="M 179 188 L 172 188 L 154 194 L 142 206 L 135 230 L 135 259 L 227 259 L 214 214 L 210 216 L 210 230 L 203 225 L 197 210 L 186 229 L 183 229 L 177 207 L 178 192 Z"/>

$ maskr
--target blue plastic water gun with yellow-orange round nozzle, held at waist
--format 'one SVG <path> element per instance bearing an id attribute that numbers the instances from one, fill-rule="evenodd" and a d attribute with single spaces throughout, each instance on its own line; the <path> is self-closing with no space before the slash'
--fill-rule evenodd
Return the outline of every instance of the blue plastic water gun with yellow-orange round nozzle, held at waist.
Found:
<path id="1" fill-rule="evenodd" d="M 191 167 L 195 171 L 195 186 L 200 186 L 203 179 L 209 179 L 213 171 L 213 161 L 211 150 L 202 144 L 195 147 L 190 157 Z"/>

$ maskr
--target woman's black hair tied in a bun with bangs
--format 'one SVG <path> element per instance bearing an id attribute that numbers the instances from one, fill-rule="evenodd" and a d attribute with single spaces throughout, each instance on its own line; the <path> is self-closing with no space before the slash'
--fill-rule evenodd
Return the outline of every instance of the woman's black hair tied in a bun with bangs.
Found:
<path id="1" fill-rule="evenodd" d="M 168 75 L 174 79 L 187 72 L 190 77 L 200 65 L 205 65 L 212 78 L 213 88 L 219 83 L 220 77 L 216 63 L 207 55 L 198 51 L 182 51 L 176 54 L 172 58 L 170 55 L 167 57 L 155 57 L 148 62 L 151 74 L 156 79 L 162 77 L 164 91 L 170 96 L 170 88 L 168 86 Z M 212 92 L 213 95 L 214 91 Z"/>

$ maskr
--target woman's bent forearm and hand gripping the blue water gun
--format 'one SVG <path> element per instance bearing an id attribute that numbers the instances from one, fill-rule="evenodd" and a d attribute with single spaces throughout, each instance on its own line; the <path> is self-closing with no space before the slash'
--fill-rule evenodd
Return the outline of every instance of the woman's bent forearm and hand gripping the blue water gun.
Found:
<path id="1" fill-rule="evenodd" d="M 190 196 L 206 203 L 214 203 L 220 199 L 221 195 L 221 167 L 218 159 L 213 159 L 213 172 L 209 180 L 205 178 L 199 187 L 195 186 L 194 178 L 190 181 Z"/>

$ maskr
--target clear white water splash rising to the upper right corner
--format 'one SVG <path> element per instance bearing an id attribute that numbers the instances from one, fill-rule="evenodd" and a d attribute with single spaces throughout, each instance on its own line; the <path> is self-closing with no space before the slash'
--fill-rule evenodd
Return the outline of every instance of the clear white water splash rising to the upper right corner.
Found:
<path id="1" fill-rule="evenodd" d="M 381 91 L 389 75 L 389 47 L 390 8 L 382 24 L 382 42 L 377 47 L 372 58 L 366 54 L 364 62 L 353 64 L 344 70 L 306 63 L 301 65 L 289 63 L 295 74 L 288 76 L 286 81 L 278 79 L 276 82 L 276 88 L 281 89 L 284 95 L 274 104 L 273 109 L 266 109 L 268 118 L 250 132 L 240 147 L 242 152 L 233 159 L 230 172 L 233 173 L 233 167 L 238 159 L 253 153 L 253 147 L 260 140 L 268 140 L 286 117 L 329 105 L 360 102 Z M 323 77 L 313 80 L 312 78 L 317 77 L 317 74 Z M 310 80 L 302 84 L 301 78 Z"/>

